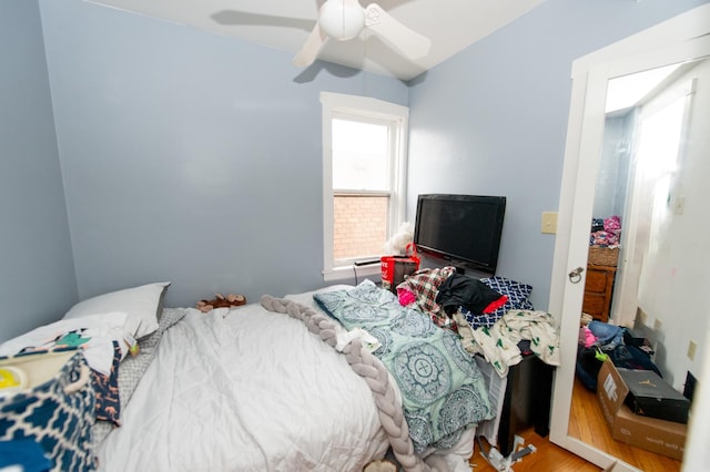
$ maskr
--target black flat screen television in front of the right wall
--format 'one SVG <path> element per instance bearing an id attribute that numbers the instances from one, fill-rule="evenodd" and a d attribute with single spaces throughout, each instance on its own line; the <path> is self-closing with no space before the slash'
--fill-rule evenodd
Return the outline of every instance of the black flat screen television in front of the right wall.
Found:
<path id="1" fill-rule="evenodd" d="M 429 194 L 417 197 L 417 250 L 455 266 L 495 274 L 506 197 Z"/>

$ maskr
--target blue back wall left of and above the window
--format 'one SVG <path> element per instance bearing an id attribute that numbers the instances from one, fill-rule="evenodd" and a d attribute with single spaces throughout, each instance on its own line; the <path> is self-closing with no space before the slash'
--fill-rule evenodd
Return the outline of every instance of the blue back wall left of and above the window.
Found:
<path id="1" fill-rule="evenodd" d="M 406 105 L 404 83 L 307 78 L 290 53 L 80 0 L 40 7 L 80 298 L 324 285 L 320 92 Z"/>

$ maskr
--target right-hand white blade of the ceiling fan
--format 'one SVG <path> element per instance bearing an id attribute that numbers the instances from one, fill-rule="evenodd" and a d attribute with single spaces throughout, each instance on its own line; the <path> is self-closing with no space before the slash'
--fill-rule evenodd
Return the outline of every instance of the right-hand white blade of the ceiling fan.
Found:
<path id="1" fill-rule="evenodd" d="M 365 27 L 408 59 L 424 58 L 429 53 L 432 41 L 428 38 L 405 27 L 376 3 L 365 8 Z"/>

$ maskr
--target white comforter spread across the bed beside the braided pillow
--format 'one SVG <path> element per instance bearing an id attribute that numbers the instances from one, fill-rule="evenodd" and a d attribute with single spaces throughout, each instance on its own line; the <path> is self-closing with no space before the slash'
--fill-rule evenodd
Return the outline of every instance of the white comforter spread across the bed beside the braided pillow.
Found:
<path id="1" fill-rule="evenodd" d="M 258 305 L 187 316 L 100 449 L 105 471 L 359 471 L 388 443 L 366 382 Z"/>

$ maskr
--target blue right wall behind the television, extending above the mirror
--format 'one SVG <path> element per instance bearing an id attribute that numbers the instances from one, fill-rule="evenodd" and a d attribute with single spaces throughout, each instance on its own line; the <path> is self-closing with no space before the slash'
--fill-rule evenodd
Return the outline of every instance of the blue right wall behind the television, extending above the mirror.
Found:
<path id="1" fill-rule="evenodd" d="M 498 275 L 534 286 L 547 309 L 571 63 L 699 0 L 547 0 L 414 81 L 409 94 L 408 208 L 416 195 L 508 197 Z"/>

